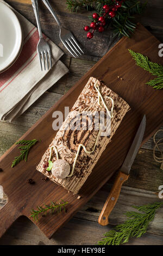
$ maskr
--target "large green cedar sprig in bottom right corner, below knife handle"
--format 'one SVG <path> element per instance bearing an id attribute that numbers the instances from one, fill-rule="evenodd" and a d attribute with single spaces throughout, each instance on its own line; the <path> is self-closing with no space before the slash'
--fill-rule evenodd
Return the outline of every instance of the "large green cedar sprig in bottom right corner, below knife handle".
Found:
<path id="1" fill-rule="evenodd" d="M 126 212 L 127 220 L 117 225 L 113 230 L 104 234 L 104 238 L 98 241 L 98 245 L 121 245 L 127 243 L 131 237 L 141 237 L 146 233 L 148 225 L 153 221 L 155 212 L 163 205 L 163 202 L 132 206 L 139 212 Z"/>

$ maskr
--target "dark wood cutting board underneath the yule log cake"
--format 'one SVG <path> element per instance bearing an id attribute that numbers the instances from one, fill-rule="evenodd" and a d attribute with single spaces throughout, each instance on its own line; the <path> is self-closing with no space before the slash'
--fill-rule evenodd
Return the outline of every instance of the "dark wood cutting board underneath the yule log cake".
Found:
<path id="1" fill-rule="evenodd" d="M 64 199 L 68 201 L 67 213 L 40 217 L 35 223 L 47 237 L 67 222 L 84 205 L 112 174 L 120 168 L 124 157 L 133 141 L 143 114 L 147 116 L 147 128 L 142 143 L 145 143 L 159 129 L 163 117 L 163 90 L 155 90 L 145 83 L 153 76 L 135 65 L 128 48 L 147 55 L 153 62 L 163 64 L 163 58 L 158 56 L 160 42 L 142 25 L 131 39 L 121 39 L 87 74 L 75 84 L 37 123 L 25 133 L 21 139 L 41 139 L 29 153 L 28 162 L 20 162 L 11 168 L 12 160 L 19 154 L 18 147 L 13 145 L 0 159 L 0 184 L 7 193 L 8 203 L 0 210 L 0 237 L 10 225 L 21 215 L 30 218 L 30 209 L 37 205 L 50 203 L 51 200 Z M 108 145 L 92 174 L 80 190 L 80 199 L 67 193 L 64 188 L 52 181 L 42 180 L 43 175 L 35 167 L 47 149 L 55 131 L 52 129 L 52 113 L 56 110 L 64 113 L 64 107 L 73 106 L 87 80 L 94 76 L 103 80 L 112 90 L 126 100 L 130 107 L 112 142 Z M 121 80 L 117 76 L 123 78 Z M 32 178 L 34 185 L 27 179 Z"/>

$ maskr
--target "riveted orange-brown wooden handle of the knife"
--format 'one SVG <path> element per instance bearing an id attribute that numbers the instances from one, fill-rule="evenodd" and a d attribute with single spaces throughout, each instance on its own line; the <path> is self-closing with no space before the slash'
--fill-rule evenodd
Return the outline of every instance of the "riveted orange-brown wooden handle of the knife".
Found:
<path id="1" fill-rule="evenodd" d="M 122 172 L 118 172 L 114 185 L 111 188 L 109 197 L 106 199 L 104 207 L 102 209 L 101 215 L 99 215 L 98 223 L 101 225 L 108 225 L 108 217 L 114 208 L 118 197 L 120 196 L 121 187 L 124 181 L 128 179 L 129 175 L 124 174 Z"/>

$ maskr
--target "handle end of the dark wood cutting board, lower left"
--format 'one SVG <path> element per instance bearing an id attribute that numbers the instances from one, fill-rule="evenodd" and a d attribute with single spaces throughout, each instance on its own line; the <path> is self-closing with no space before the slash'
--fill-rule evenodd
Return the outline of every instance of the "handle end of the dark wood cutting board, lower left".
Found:
<path id="1" fill-rule="evenodd" d="M 9 202 L 0 209 L 0 237 L 21 215 Z"/>

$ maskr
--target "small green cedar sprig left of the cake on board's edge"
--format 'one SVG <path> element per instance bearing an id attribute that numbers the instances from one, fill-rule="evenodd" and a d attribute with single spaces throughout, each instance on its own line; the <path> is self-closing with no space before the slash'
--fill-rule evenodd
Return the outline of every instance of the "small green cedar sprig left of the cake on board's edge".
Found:
<path id="1" fill-rule="evenodd" d="M 32 139 L 32 141 L 25 141 L 24 139 L 22 139 L 21 141 L 16 142 L 16 144 L 21 144 L 23 146 L 18 147 L 18 149 L 21 149 L 21 154 L 20 156 L 16 156 L 14 158 L 11 167 L 16 166 L 20 161 L 23 161 L 24 159 L 27 162 L 29 150 L 36 144 L 36 142 L 37 139 Z"/>

